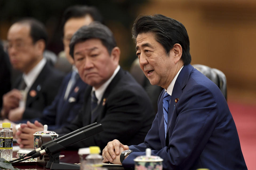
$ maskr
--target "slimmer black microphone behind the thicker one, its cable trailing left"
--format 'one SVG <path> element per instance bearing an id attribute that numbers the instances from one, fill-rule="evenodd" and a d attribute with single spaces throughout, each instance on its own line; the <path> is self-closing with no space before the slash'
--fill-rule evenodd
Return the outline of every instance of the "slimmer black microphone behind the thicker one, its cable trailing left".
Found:
<path id="1" fill-rule="evenodd" d="M 77 130 L 75 130 L 75 131 L 73 131 L 73 132 L 70 132 L 69 134 L 66 134 L 66 135 L 64 135 L 64 136 L 61 136 L 61 137 L 59 137 L 59 138 L 57 138 L 57 139 L 55 139 L 55 140 L 51 140 L 51 141 L 49 141 L 49 142 L 46 142 L 46 143 L 42 144 L 42 146 L 41 146 L 40 148 L 37 148 L 37 149 L 35 149 L 35 150 L 29 152 L 28 154 L 26 154 L 26 155 L 24 155 L 24 156 L 22 156 L 22 157 L 20 157 L 20 158 L 18 158 L 18 159 L 11 160 L 10 162 L 14 162 L 14 161 L 23 159 L 24 157 L 32 156 L 33 154 L 35 154 L 35 153 L 37 153 L 37 152 L 39 152 L 39 151 L 45 149 L 45 147 L 47 147 L 47 146 L 50 145 L 50 144 L 53 144 L 54 142 L 58 142 L 58 141 L 60 141 L 60 140 L 62 140 L 62 139 L 65 139 L 65 138 L 67 138 L 67 137 L 69 137 L 69 136 L 71 136 L 71 135 L 77 134 L 78 132 L 81 132 L 81 131 L 83 131 L 83 130 L 86 130 L 86 129 L 88 129 L 88 128 L 90 128 L 90 127 L 93 127 L 93 126 L 95 126 L 95 125 L 97 125 L 97 122 L 92 123 L 92 124 L 90 124 L 90 125 L 87 125 L 87 126 L 85 126 L 85 127 L 79 128 L 79 129 L 77 129 Z"/>

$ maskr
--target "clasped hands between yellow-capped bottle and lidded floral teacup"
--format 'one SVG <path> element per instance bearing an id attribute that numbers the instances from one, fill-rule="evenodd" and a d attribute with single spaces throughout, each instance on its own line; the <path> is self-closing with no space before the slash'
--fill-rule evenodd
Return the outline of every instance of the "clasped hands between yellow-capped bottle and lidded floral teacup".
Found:
<path id="1" fill-rule="evenodd" d="M 37 131 L 43 131 L 43 125 L 38 121 L 27 124 L 21 124 L 21 127 L 16 132 L 17 143 L 20 148 L 34 148 L 34 136 Z"/>

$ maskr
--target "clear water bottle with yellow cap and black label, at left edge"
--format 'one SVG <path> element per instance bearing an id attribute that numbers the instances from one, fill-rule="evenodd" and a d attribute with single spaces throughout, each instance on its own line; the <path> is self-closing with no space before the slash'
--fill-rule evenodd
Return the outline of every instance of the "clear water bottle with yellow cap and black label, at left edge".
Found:
<path id="1" fill-rule="evenodd" d="M 11 123 L 3 123 L 0 131 L 1 158 L 7 161 L 13 159 L 13 131 L 10 129 Z"/>

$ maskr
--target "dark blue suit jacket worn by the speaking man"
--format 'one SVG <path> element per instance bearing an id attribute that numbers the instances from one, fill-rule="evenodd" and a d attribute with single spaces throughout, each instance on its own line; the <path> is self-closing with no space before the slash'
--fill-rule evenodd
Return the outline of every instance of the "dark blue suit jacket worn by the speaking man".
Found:
<path id="1" fill-rule="evenodd" d="M 125 168 L 151 148 L 163 158 L 164 169 L 247 169 L 229 107 L 212 81 L 190 64 L 182 68 L 170 99 L 166 138 L 163 94 L 144 143 L 129 147 L 134 152 L 123 161 Z"/>

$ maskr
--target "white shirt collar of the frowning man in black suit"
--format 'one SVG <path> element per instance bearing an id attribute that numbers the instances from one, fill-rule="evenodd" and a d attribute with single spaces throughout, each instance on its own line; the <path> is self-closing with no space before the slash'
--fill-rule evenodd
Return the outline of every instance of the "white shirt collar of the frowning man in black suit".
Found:
<path id="1" fill-rule="evenodd" d="M 107 86 L 110 84 L 110 82 L 113 80 L 113 78 L 115 77 L 115 75 L 118 73 L 118 71 L 120 70 L 120 65 L 117 66 L 117 68 L 115 69 L 114 73 L 112 74 L 112 76 L 109 78 L 109 80 L 107 80 L 103 85 L 101 85 L 97 90 L 93 87 L 93 89 L 91 90 L 91 94 L 93 93 L 93 91 L 95 91 L 95 96 L 98 99 L 98 104 L 99 102 L 101 102 L 101 98 L 105 92 L 105 90 L 107 89 Z"/>

